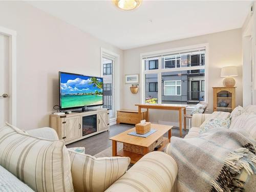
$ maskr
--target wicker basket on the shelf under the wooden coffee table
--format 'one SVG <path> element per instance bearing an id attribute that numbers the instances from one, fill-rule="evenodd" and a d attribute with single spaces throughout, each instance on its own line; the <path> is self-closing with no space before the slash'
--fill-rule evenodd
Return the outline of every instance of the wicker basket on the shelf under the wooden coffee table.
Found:
<path id="1" fill-rule="evenodd" d="M 155 141 L 154 143 L 152 143 L 149 147 L 148 147 L 148 152 L 153 152 L 154 148 L 158 145 L 160 145 L 161 143 L 163 143 L 163 136 L 160 137 L 157 141 Z M 137 153 L 140 155 L 145 155 L 144 154 L 144 150 L 143 150 L 143 146 L 138 146 L 138 145 L 133 145 L 133 144 L 128 144 L 128 143 L 123 143 L 123 150 L 124 151 L 129 151 L 129 152 L 133 152 L 133 153 Z"/>

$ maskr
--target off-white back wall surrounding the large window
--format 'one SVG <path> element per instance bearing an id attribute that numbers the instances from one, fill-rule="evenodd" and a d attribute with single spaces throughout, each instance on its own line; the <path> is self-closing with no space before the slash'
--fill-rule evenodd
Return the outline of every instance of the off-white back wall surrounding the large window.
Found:
<path id="1" fill-rule="evenodd" d="M 224 66 L 238 66 L 239 76 L 235 77 L 237 83 L 237 105 L 242 105 L 242 33 L 241 29 L 234 29 L 219 33 L 212 33 L 181 40 L 163 42 L 161 44 L 145 46 L 135 49 L 124 50 L 123 52 L 123 79 L 125 74 L 140 73 L 140 54 L 152 51 L 160 51 L 179 47 L 186 47 L 198 44 L 209 44 L 209 111 L 213 110 L 212 87 L 223 86 L 220 77 L 221 68 Z M 130 84 L 123 83 L 122 109 L 136 109 L 135 104 L 140 102 L 140 90 L 138 94 L 132 94 L 129 90 Z M 143 86 L 142 84 L 139 87 Z M 176 115 L 170 112 L 153 111 L 150 113 L 150 121 L 177 121 Z"/>

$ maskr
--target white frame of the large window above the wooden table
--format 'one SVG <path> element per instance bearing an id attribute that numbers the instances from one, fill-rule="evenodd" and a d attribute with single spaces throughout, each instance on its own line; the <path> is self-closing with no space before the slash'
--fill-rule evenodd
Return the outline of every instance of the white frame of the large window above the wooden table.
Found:
<path id="1" fill-rule="evenodd" d="M 190 54 L 193 54 L 194 52 L 198 51 L 204 51 L 204 66 L 193 66 L 193 67 L 184 67 L 181 63 L 181 68 L 167 68 L 164 69 L 162 68 L 164 60 L 164 56 L 168 56 L 171 54 L 180 54 L 182 55 L 183 53 L 190 52 Z M 158 50 L 158 51 L 153 51 L 153 52 L 147 52 L 147 53 L 141 53 L 140 54 L 140 84 L 141 86 L 141 92 L 140 92 L 140 103 L 144 104 L 145 103 L 145 75 L 146 74 L 157 74 L 158 77 L 158 103 L 162 103 L 162 88 L 161 88 L 161 80 L 162 80 L 162 73 L 164 72 L 177 72 L 177 71 L 189 71 L 189 70 L 204 70 L 204 80 L 205 80 L 205 97 L 204 101 L 208 102 L 209 100 L 209 94 L 208 94 L 208 53 L 209 53 L 209 44 L 198 44 L 198 45 L 192 45 L 192 46 L 185 46 L 185 47 L 178 47 L 178 48 L 172 48 L 172 49 L 166 49 L 166 50 Z M 161 66 L 160 69 L 158 70 L 145 70 L 145 60 L 149 59 L 159 59 L 158 65 Z"/>

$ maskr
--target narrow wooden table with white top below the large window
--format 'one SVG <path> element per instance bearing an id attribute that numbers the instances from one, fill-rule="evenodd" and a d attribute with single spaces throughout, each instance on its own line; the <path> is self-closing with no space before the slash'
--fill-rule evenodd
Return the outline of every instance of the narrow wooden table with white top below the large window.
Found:
<path id="1" fill-rule="evenodd" d="M 141 109 L 147 109 L 147 117 L 148 119 L 148 109 L 158 109 L 158 110 L 174 110 L 179 111 L 179 126 L 180 126 L 180 137 L 182 137 L 182 110 L 184 115 L 186 114 L 187 104 L 135 104 L 138 106 L 138 115 L 141 117 Z M 142 119 L 140 119 L 142 120 Z M 186 118 L 183 119 L 184 122 L 184 130 L 186 130 Z"/>

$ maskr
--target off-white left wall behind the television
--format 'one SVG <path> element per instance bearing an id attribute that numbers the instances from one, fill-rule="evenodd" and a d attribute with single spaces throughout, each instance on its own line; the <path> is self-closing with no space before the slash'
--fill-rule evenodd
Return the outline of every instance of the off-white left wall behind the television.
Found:
<path id="1" fill-rule="evenodd" d="M 49 126 L 58 104 L 58 71 L 100 76 L 100 47 L 120 55 L 116 70 L 122 71 L 122 50 L 25 2 L 1 1 L 0 26 L 17 31 L 17 126 L 22 129 Z"/>

